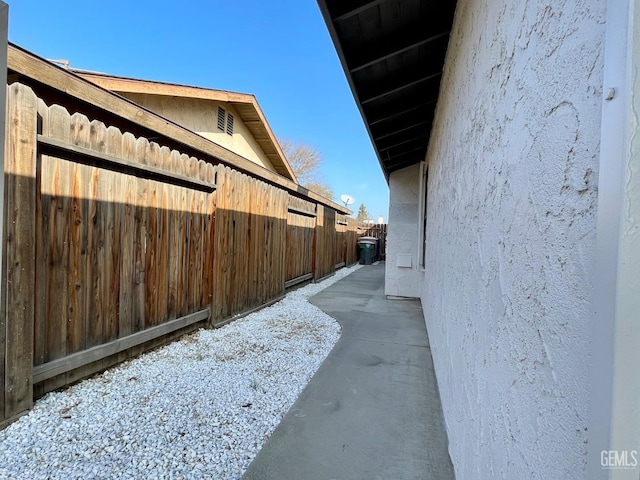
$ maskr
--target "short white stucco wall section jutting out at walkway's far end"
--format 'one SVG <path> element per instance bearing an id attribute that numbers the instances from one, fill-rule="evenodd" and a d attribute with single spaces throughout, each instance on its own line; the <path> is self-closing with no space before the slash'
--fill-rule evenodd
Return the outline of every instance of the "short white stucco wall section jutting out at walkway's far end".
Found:
<path id="1" fill-rule="evenodd" d="M 384 285 L 386 295 L 402 297 L 418 297 L 420 295 L 420 276 L 418 274 L 419 185 L 419 165 L 393 172 L 389 176 L 389 223 Z M 408 256 L 411 266 L 398 266 L 399 256 Z"/>

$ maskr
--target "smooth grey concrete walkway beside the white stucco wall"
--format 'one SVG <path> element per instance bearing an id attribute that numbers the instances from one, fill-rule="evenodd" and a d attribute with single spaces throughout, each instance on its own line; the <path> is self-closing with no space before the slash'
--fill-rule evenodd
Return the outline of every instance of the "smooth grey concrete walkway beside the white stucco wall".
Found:
<path id="1" fill-rule="evenodd" d="M 381 263 L 311 302 L 342 337 L 243 479 L 453 479 L 420 301 L 387 300 Z"/>

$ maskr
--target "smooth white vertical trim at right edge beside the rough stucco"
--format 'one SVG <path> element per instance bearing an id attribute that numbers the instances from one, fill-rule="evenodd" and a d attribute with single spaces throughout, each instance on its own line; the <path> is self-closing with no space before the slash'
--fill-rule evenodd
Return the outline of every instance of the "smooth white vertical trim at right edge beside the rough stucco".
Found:
<path id="1" fill-rule="evenodd" d="M 607 2 L 587 478 L 640 472 L 640 9 Z"/>

